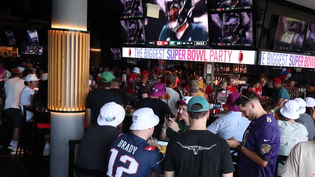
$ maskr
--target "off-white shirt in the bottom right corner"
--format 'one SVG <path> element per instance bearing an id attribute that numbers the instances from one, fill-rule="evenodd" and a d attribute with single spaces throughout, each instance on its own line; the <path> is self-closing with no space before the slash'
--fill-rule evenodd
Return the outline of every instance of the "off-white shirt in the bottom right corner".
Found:
<path id="1" fill-rule="evenodd" d="M 300 142 L 295 145 L 286 159 L 281 177 L 315 176 L 315 141 Z"/>

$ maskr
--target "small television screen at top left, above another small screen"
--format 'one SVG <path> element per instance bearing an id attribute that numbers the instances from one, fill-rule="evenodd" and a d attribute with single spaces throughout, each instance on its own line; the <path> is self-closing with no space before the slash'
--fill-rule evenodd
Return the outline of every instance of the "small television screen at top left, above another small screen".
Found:
<path id="1" fill-rule="evenodd" d="M 119 0 L 122 7 L 119 10 L 121 19 L 135 19 L 143 17 L 142 0 Z"/>

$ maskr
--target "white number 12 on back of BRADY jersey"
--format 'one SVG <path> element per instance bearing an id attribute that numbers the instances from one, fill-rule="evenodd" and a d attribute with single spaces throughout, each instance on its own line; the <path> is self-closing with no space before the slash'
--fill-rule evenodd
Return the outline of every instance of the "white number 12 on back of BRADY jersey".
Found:
<path id="1" fill-rule="evenodd" d="M 108 171 L 107 171 L 107 175 L 109 177 L 113 177 L 112 176 L 112 171 L 113 171 L 113 166 L 114 163 L 116 162 L 117 159 L 117 155 L 118 155 L 118 150 L 115 148 L 111 148 L 110 149 L 111 155 L 110 155 L 110 161 L 108 164 Z M 126 164 L 127 161 L 130 162 L 129 167 L 125 168 L 122 166 L 119 166 L 116 168 L 116 173 L 115 173 L 115 177 L 122 177 L 123 173 L 127 173 L 129 175 L 132 174 L 136 174 L 138 171 L 138 167 L 139 167 L 139 163 L 132 157 L 127 156 L 127 155 L 122 155 L 119 159 L 120 162 L 123 162 Z"/>

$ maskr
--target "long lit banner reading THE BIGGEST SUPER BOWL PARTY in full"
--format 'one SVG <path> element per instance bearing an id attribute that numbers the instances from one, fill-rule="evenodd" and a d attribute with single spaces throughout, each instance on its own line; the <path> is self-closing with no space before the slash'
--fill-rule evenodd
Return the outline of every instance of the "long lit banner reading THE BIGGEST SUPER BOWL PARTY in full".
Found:
<path id="1" fill-rule="evenodd" d="M 167 59 L 178 61 L 255 64 L 255 51 L 250 50 L 123 47 L 123 57 L 140 59 Z"/>

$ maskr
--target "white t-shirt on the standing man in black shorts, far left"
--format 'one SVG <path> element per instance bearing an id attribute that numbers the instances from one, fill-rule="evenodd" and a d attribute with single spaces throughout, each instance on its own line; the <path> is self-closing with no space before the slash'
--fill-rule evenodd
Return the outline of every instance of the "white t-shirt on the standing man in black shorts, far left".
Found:
<path id="1" fill-rule="evenodd" d="M 17 108 L 19 104 L 20 94 L 24 88 L 24 80 L 20 78 L 12 78 L 4 82 L 5 105 L 4 109 Z"/>

